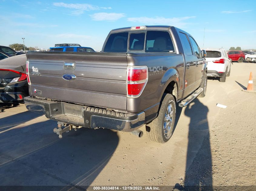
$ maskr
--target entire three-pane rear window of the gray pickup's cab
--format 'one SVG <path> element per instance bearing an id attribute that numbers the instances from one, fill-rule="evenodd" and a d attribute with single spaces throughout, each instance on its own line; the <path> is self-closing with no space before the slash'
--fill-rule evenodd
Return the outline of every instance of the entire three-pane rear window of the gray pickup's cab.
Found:
<path id="1" fill-rule="evenodd" d="M 129 51 L 175 52 L 168 31 L 157 30 L 148 30 L 146 33 L 130 33 L 130 35 L 128 32 L 112 33 L 108 37 L 103 52 L 124 53 L 127 52 L 127 48 Z"/>

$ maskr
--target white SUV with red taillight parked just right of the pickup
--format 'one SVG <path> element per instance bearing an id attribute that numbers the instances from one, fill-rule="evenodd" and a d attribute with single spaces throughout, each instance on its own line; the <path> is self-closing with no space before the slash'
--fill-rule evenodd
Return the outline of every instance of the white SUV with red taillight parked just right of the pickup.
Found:
<path id="1" fill-rule="evenodd" d="M 220 82 L 225 82 L 226 77 L 230 75 L 232 61 L 224 48 L 206 49 L 207 76 L 219 77 Z"/>

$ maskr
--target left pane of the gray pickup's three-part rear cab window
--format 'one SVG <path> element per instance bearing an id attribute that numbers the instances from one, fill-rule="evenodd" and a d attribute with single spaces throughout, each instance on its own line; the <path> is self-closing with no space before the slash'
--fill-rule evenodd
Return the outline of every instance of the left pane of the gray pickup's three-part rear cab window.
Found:
<path id="1" fill-rule="evenodd" d="M 128 32 L 113 33 L 108 37 L 104 52 L 125 53 L 127 51 Z"/>

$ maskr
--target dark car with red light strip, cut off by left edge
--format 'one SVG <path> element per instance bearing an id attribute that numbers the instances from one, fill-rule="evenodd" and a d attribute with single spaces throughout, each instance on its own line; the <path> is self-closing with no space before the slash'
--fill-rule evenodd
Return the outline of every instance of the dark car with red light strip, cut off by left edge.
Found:
<path id="1" fill-rule="evenodd" d="M 0 60 L 0 105 L 23 103 L 29 95 L 26 60 L 25 54 Z"/>

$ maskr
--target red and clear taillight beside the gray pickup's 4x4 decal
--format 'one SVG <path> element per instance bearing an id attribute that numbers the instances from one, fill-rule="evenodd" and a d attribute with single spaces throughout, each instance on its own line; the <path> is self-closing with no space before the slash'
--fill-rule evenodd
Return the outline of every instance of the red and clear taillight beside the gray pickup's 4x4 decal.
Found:
<path id="1" fill-rule="evenodd" d="M 127 72 L 127 96 L 138 97 L 148 81 L 148 68 L 129 67 Z"/>

